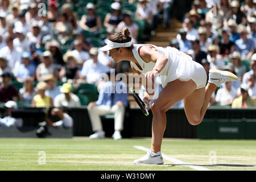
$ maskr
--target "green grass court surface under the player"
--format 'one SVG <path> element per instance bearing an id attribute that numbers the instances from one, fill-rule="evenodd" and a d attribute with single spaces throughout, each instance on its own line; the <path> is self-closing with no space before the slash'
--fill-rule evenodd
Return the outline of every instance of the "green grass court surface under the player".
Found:
<path id="1" fill-rule="evenodd" d="M 150 139 L 0 139 L 0 170 L 193 170 L 164 159 L 163 165 L 134 165 L 150 148 Z M 39 151 L 46 164 L 39 165 Z M 217 164 L 209 164 L 209 152 Z M 162 152 L 171 158 L 211 170 L 256 170 L 256 140 L 164 139 Z"/>

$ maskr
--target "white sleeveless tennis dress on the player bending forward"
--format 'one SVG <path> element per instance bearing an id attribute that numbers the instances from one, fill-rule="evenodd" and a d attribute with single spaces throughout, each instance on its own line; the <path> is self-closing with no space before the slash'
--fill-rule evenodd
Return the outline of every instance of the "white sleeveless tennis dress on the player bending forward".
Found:
<path id="1" fill-rule="evenodd" d="M 139 69 L 135 63 L 131 62 L 137 71 L 145 74 L 152 71 L 155 67 L 154 62 L 150 61 L 149 63 L 146 63 L 142 60 L 141 56 L 139 56 L 138 49 L 146 45 L 155 47 L 158 52 L 162 53 L 168 59 L 166 66 L 159 73 L 163 88 L 168 84 L 168 82 L 176 79 L 181 81 L 193 80 L 197 85 L 197 89 L 205 87 L 207 74 L 204 67 L 196 61 L 193 61 L 191 56 L 188 56 L 184 52 L 173 47 L 163 48 L 152 44 L 134 44 L 133 55 L 142 68 L 142 70 Z"/>

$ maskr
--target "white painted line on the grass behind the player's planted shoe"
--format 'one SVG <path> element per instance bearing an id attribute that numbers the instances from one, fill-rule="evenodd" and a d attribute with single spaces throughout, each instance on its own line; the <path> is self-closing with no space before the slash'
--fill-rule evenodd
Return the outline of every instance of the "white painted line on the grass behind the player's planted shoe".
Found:
<path id="1" fill-rule="evenodd" d="M 149 148 L 146 148 L 146 147 L 143 147 L 143 146 L 133 146 L 134 148 L 137 148 L 139 150 L 143 150 L 143 151 L 148 151 L 150 150 Z M 165 155 L 162 153 L 162 156 L 164 159 L 170 161 L 170 162 L 173 162 L 175 164 L 181 164 L 180 166 L 186 166 L 186 167 L 190 167 L 192 169 L 196 169 L 197 171 L 212 171 L 208 168 L 205 168 L 205 167 L 201 167 L 201 166 L 193 166 L 193 165 L 189 165 L 185 162 L 183 162 L 182 160 L 179 160 L 179 159 L 175 159 L 175 158 L 171 158 L 170 156 L 168 155 Z"/>

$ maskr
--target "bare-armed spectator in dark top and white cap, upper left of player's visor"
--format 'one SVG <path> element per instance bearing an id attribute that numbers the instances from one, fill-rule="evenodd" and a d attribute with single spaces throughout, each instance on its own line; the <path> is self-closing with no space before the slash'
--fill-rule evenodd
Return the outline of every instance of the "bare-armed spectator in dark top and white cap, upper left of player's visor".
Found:
<path id="1" fill-rule="evenodd" d="M 80 27 L 86 31 L 90 31 L 94 36 L 98 36 L 101 30 L 101 18 L 96 14 L 96 7 L 93 3 L 86 5 L 87 14 L 82 15 Z"/>

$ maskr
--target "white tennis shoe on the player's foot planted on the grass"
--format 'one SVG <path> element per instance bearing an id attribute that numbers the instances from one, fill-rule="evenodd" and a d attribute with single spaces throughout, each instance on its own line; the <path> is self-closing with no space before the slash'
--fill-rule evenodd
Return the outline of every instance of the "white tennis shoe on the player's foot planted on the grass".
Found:
<path id="1" fill-rule="evenodd" d="M 161 152 L 154 153 L 151 150 L 147 151 L 147 154 L 140 159 L 136 159 L 134 164 L 163 164 L 163 157 Z"/>

